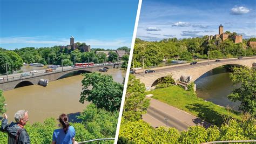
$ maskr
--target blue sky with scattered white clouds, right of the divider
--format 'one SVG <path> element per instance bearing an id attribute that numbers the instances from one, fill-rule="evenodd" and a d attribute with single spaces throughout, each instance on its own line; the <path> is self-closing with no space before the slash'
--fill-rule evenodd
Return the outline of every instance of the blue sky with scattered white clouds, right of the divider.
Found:
<path id="1" fill-rule="evenodd" d="M 256 1 L 163 1 L 143 0 L 137 37 L 143 40 L 191 38 L 237 32 L 256 37 Z"/>

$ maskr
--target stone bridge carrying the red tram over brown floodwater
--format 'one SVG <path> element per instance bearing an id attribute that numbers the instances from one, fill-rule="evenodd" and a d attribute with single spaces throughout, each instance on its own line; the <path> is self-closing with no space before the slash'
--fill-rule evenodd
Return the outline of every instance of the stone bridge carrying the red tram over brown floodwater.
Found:
<path id="1" fill-rule="evenodd" d="M 62 71 L 62 67 L 58 67 L 57 70 L 54 70 L 53 72 L 45 73 L 45 70 L 41 70 L 38 73 L 30 74 L 28 77 L 20 77 L 20 74 L 18 77 L 12 78 L 12 76 L 9 76 L 8 81 L 1 81 L 0 82 L 0 89 L 3 91 L 8 91 L 16 88 L 17 85 L 20 84 L 26 84 L 26 85 L 37 85 L 39 82 L 39 79 L 49 79 L 49 81 L 57 80 L 66 74 L 69 74 L 71 72 L 78 72 L 78 71 L 84 71 L 84 72 L 97 72 L 100 68 L 103 68 L 105 66 L 109 68 L 114 68 L 118 64 L 107 64 L 107 65 L 95 65 L 90 67 L 69 67 L 65 68 Z M 17 75 L 17 74 L 16 74 Z"/>

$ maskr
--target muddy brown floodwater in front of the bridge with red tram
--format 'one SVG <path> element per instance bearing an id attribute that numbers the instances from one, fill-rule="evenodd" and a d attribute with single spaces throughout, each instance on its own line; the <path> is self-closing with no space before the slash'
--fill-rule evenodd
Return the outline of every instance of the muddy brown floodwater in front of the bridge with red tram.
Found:
<path id="1" fill-rule="evenodd" d="M 108 72 L 114 81 L 123 83 L 126 72 L 118 68 L 109 69 Z M 48 86 L 30 85 L 5 91 L 5 103 L 9 120 L 14 121 L 14 114 L 19 109 L 29 111 L 29 121 L 43 122 L 46 118 L 58 118 L 62 113 L 74 115 L 82 112 L 89 104 L 79 102 L 82 92 L 83 76 L 77 75 L 50 81 Z"/>

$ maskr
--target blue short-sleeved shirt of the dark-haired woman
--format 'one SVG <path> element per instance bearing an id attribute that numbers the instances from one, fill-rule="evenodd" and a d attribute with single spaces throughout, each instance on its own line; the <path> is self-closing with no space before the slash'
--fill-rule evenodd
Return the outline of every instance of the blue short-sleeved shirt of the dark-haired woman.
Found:
<path id="1" fill-rule="evenodd" d="M 63 129 L 55 129 L 52 135 L 52 141 L 55 141 L 56 144 L 72 144 L 72 139 L 75 137 L 76 131 L 73 126 L 69 126 L 66 134 Z"/>

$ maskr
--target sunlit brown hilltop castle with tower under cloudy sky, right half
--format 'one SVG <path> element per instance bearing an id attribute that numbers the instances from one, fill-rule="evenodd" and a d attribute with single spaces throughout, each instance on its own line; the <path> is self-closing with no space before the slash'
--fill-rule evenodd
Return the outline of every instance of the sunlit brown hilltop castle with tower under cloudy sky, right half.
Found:
<path id="1" fill-rule="evenodd" d="M 220 24 L 220 26 L 219 26 L 219 35 L 209 36 L 208 40 L 220 38 L 221 41 L 223 42 L 225 39 L 230 37 L 230 33 L 226 33 L 226 32 L 223 32 L 223 31 L 224 31 L 223 26 Z M 234 36 L 232 36 L 232 39 L 233 39 L 234 43 L 242 43 L 242 35 L 234 35 Z"/>

